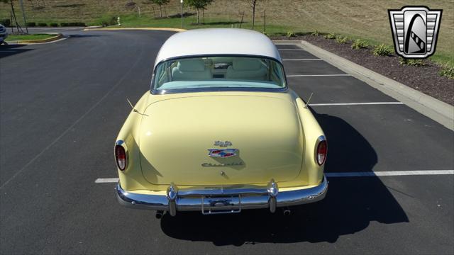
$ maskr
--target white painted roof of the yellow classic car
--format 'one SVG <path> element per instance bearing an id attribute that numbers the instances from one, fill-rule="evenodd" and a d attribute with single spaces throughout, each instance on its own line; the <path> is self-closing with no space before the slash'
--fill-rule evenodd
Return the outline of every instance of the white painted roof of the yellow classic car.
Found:
<path id="1" fill-rule="evenodd" d="M 276 46 L 262 33 L 238 28 L 204 28 L 176 33 L 164 42 L 156 64 L 192 55 L 257 55 L 282 62 Z"/>

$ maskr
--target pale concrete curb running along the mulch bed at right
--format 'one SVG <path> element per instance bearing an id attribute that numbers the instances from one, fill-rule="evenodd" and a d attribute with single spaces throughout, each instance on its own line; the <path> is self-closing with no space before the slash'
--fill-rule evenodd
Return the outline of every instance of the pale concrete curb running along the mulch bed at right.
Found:
<path id="1" fill-rule="evenodd" d="M 397 101 L 405 103 L 406 106 L 413 108 L 415 111 L 426 115 L 428 118 L 435 120 L 441 125 L 454 131 L 454 106 L 442 102 L 436 98 L 421 93 L 415 89 L 411 89 L 398 81 L 384 77 L 382 74 L 373 72 L 370 69 L 355 64 L 343 57 L 339 57 L 327 50 L 312 45 L 304 40 L 274 40 L 276 44 L 292 44 L 299 45 L 307 52 L 321 58 L 322 60 L 341 69 L 343 72 L 351 74 L 356 79 L 364 81 L 366 84 L 375 89 L 382 91 L 384 94 L 391 96 Z"/>

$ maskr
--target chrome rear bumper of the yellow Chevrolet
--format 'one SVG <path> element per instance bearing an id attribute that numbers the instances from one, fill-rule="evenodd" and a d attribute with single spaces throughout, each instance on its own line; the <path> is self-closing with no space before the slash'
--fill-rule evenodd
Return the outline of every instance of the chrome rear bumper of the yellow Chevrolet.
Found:
<path id="1" fill-rule="evenodd" d="M 328 181 L 323 176 L 319 186 L 295 191 L 279 191 L 271 180 L 265 186 L 214 187 L 203 190 L 178 189 L 173 183 L 167 188 L 167 196 L 145 195 L 123 190 L 116 186 L 118 203 L 128 208 L 164 210 L 175 216 L 177 211 L 201 210 L 203 214 L 240 212 L 243 209 L 270 208 L 314 203 L 325 198 Z"/>

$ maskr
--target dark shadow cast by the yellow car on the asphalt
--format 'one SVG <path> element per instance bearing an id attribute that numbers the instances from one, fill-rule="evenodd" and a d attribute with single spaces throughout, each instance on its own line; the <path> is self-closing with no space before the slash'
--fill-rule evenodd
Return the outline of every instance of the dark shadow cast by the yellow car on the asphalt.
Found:
<path id="1" fill-rule="evenodd" d="M 328 139 L 326 172 L 372 171 L 377 154 L 358 131 L 341 118 L 315 114 Z M 326 198 L 291 207 L 291 215 L 268 210 L 201 215 L 177 212 L 161 219 L 169 237 L 215 245 L 294 242 L 336 242 L 338 237 L 382 224 L 409 222 L 404 210 L 377 177 L 328 178 Z"/>

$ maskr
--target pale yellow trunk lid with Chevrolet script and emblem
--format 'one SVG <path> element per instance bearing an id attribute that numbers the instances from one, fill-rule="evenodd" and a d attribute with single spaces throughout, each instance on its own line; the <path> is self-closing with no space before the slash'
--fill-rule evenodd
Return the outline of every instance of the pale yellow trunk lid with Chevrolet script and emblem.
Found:
<path id="1" fill-rule="evenodd" d="M 146 108 L 140 125 L 143 176 L 160 185 L 291 181 L 301 171 L 303 155 L 297 116 L 292 101 L 282 96 L 187 96 L 157 101 Z M 209 149 L 231 149 L 226 153 L 236 155 L 210 157 Z"/>

